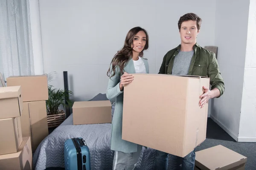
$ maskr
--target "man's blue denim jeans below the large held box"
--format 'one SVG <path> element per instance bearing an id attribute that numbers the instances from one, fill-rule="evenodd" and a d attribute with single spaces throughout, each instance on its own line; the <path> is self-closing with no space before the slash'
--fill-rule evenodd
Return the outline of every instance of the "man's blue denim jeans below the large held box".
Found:
<path id="1" fill-rule="evenodd" d="M 194 170 L 195 166 L 195 149 L 184 158 L 171 155 L 170 170 Z M 169 170 L 168 169 L 168 153 L 157 150 L 156 154 L 156 166 L 157 170 Z"/>

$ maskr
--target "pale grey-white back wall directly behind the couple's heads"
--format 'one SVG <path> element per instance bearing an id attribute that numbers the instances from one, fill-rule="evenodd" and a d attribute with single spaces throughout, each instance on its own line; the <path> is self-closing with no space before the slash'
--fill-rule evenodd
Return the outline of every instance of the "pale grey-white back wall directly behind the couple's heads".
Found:
<path id="1" fill-rule="evenodd" d="M 111 59 L 134 26 L 149 33 L 145 57 L 150 73 L 157 73 L 164 54 L 180 43 L 177 22 L 185 13 L 203 20 L 198 43 L 214 45 L 215 5 L 215 0 L 39 0 L 44 73 L 57 71 L 52 85 L 63 88 L 68 71 L 77 101 L 106 93 Z"/>

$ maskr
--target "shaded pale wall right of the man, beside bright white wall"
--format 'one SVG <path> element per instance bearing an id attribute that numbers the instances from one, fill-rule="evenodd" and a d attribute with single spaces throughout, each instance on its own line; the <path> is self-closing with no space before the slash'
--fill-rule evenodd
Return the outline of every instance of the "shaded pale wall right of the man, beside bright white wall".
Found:
<path id="1" fill-rule="evenodd" d="M 215 45 L 224 78 L 223 96 L 212 100 L 211 117 L 238 140 L 244 82 L 249 0 L 217 0 Z"/>

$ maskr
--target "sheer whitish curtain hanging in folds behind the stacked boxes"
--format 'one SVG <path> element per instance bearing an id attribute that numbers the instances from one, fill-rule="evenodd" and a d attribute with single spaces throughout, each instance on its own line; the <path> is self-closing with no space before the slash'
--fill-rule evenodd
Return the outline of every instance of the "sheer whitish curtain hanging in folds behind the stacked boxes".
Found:
<path id="1" fill-rule="evenodd" d="M 0 72 L 34 75 L 29 0 L 0 0 Z"/>

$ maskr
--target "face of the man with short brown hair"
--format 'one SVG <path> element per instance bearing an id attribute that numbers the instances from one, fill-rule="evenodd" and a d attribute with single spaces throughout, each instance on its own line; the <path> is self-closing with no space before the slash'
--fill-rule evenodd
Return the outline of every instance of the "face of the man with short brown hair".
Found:
<path id="1" fill-rule="evenodd" d="M 185 44 L 195 44 L 196 37 L 199 30 L 196 25 L 196 21 L 189 20 L 181 23 L 180 26 L 180 39 Z"/>

